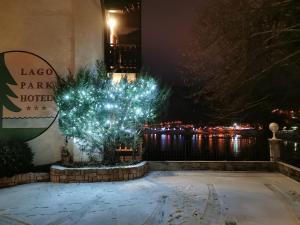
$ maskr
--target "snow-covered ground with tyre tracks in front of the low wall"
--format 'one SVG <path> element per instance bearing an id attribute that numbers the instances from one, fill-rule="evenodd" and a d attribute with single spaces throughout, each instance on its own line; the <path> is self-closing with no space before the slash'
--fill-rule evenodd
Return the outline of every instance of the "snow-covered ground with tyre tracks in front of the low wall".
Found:
<path id="1" fill-rule="evenodd" d="M 300 183 L 279 173 L 152 172 L 127 182 L 0 189 L 0 225 L 299 225 Z"/>

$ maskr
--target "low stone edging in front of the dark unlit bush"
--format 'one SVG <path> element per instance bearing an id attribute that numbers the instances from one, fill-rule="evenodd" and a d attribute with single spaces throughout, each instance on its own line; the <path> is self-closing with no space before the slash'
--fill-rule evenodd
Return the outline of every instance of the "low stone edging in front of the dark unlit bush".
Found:
<path id="1" fill-rule="evenodd" d="M 0 188 L 35 182 L 49 182 L 49 173 L 24 173 L 0 178 Z"/>

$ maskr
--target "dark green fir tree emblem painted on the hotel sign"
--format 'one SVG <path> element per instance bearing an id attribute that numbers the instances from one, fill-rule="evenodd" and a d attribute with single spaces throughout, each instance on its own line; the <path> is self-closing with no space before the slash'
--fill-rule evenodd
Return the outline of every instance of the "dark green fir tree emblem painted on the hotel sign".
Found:
<path id="1" fill-rule="evenodd" d="M 4 54 L 0 54 L 0 128 L 2 128 L 2 117 L 3 117 L 3 108 L 12 111 L 20 112 L 21 109 L 17 107 L 14 103 L 11 102 L 9 97 L 17 98 L 15 93 L 9 88 L 8 85 L 17 85 L 16 81 L 11 76 L 8 71 L 5 61 Z"/>

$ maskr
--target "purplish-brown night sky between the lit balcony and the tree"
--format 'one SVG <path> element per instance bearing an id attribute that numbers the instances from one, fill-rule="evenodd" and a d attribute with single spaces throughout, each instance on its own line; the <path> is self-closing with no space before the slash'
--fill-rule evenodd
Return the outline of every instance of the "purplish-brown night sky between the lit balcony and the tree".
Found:
<path id="1" fill-rule="evenodd" d="M 143 0 L 142 55 L 145 69 L 170 85 L 180 85 L 180 55 L 191 37 L 200 0 Z M 184 3 L 184 4 L 183 4 Z"/>

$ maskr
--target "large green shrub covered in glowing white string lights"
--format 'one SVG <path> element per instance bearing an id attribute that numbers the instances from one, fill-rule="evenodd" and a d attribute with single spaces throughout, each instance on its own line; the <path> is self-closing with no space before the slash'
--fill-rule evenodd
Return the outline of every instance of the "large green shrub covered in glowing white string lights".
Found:
<path id="1" fill-rule="evenodd" d="M 119 146 L 137 149 L 144 124 L 161 113 L 169 92 L 149 76 L 114 82 L 102 65 L 96 71 L 81 69 L 76 76 L 58 78 L 59 127 L 91 161 L 114 164 Z"/>

